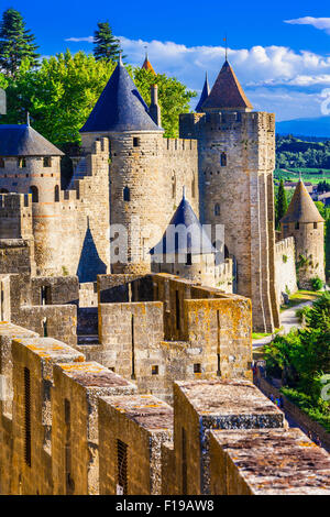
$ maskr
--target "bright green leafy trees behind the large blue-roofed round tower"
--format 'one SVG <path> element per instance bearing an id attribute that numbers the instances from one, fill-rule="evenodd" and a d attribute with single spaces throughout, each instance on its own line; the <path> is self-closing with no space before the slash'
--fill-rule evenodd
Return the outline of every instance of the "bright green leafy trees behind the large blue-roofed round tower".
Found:
<path id="1" fill-rule="evenodd" d="M 90 54 L 78 52 L 43 59 L 37 69 L 21 66 L 16 78 L 4 78 L 8 114 L 1 117 L 2 123 L 25 123 L 26 111 L 31 114 L 32 125 L 55 145 L 67 148 L 66 144 L 80 143 L 79 129 L 100 97 L 114 67 L 114 62 L 96 61 Z M 163 127 L 166 136 L 177 136 L 178 114 L 189 110 L 194 92 L 177 79 L 151 76 L 140 68 L 129 73 L 144 100 L 150 102 L 150 85 L 157 81 L 162 106 Z M 1 85 L 0 74 L 0 85 Z"/>

